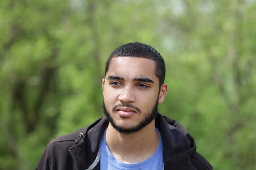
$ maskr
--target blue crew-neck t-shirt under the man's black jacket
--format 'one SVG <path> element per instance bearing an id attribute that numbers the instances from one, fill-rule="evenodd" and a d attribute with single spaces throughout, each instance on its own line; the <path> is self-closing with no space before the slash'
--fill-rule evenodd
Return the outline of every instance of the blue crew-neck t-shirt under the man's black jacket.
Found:
<path id="1" fill-rule="evenodd" d="M 159 136 L 160 136 L 160 142 L 158 144 L 157 150 L 155 153 L 148 158 L 147 160 L 139 163 L 122 163 L 118 160 L 116 160 L 113 155 L 110 153 L 108 146 L 106 145 L 105 141 L 105 133 L 101 137 L 100 141 L 100 169 L 103 170 L 137 170 L 137 169 L 143 169 L 143 170 L 150 170 L 150 169 L 163 169 L 163 143 L 162 143 L 162 137 L 158 129 L 156 128 Z"/>

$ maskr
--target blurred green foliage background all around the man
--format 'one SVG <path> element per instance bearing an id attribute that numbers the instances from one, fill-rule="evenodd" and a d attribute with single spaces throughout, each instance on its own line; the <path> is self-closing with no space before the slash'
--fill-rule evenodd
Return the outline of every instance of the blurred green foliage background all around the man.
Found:
<path id="1" fill-rule="evenodd" d="M 103 116 L 119 45 L 166 61 L 160 112 L 215 169 L 256 169 L 256 1 L 0 1 L 0 169 L 34 169 L 50 139 Z"/>

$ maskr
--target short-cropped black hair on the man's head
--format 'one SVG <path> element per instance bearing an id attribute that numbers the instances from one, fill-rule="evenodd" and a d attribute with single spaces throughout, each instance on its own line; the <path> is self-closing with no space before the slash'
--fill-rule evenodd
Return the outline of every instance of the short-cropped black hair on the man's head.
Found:
<path id="1" fill-rule="evenodd" d="M 159 87 L 165 79 L 165 63 L 163 57 L 150 45 L 139 42 L 127 43 L 114 50 L 106 61 L 105 75 L 109 69 L 110 62 L 114 57 L 141 57 L 155 61 L 156 76 L 159 78 Z"/>

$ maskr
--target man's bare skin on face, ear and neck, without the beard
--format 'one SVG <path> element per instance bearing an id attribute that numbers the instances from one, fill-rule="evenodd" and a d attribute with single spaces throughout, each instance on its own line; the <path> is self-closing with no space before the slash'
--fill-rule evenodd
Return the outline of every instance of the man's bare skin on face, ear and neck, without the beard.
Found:
<path id="1" fill-rule="evenodd" d="M 162 103 L 167 85 L 159 89 L 155 75 L 155 62 L 146 58 L 113 58 L 102 80 L 106 111 L 115 124 L 132 129 L 152 113 L 156 102 Z M 120 105 L 125 106 L 120 106 Z M 127 106 L 127 104 L 129 104 Z M 155 119 L 136 132 L 122 133 L 109 124 L 106 143 L 112 155 L 124 163 L 142 162 L 156 151 L 159 135 L 155 130 Z"/>

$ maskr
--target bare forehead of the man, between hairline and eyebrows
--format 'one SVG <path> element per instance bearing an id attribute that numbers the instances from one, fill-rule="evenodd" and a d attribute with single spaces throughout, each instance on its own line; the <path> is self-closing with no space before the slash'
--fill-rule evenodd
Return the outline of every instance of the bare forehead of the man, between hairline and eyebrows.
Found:
<path id="1" fill-rule="evenodd" d="M 111 59 L 106 75 L 127 78 L 149 77 L 157 79 L 155 61 L 142 57 L 114 57 Z"/>

